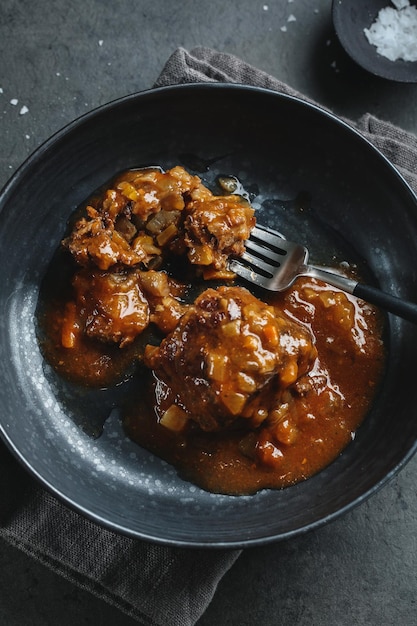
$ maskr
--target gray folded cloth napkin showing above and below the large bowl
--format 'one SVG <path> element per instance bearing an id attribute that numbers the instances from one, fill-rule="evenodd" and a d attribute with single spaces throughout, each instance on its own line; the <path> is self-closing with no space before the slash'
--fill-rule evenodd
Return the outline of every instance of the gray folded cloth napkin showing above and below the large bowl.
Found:
<path id="1" fill-rule="evenodd" d="M 155 86 L 250 84 L 303 97 L 229 54 L 178 49 Z M 356 124 L 417 190 L 417 138 L 364 115 Z M 191 626 L 204 613 L 237 550 L 169 548 L 122 537 L 69 510 L 37 485 L 0 444 L 0 537 L 146 626 Z"/>

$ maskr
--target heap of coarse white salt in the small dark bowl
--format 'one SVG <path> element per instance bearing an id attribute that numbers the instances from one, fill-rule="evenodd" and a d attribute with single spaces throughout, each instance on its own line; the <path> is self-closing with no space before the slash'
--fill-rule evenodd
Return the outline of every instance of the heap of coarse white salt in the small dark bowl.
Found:
<path id="1" fill-rule="evenodd" d="M 397 61 L 417 61 L 417 8 L 409 0 L 392 0 L 392 7 L 385 7 L 368 29 L 364 29 L 368 42 L 377 53 Z"/>

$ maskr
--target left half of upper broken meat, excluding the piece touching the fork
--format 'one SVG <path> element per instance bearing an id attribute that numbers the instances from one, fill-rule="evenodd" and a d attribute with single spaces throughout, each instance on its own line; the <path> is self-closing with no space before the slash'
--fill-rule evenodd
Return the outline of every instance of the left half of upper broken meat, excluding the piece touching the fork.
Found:
<path id="1" fill-rule="evenodd" d="M 184 197 L 200 184 L 197 176 L 179 167 L 125 172 L 86 207 L 87 215 L 75 223 L 63 245 L 84 267 L 147 267 L 178 235 Z"/>

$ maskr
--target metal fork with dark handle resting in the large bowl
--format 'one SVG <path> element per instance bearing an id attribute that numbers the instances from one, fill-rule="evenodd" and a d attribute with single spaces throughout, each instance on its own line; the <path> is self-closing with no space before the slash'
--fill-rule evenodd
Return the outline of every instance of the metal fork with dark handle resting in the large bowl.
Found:
<path id="1" fill-rule="evenodd" d="M 268 291 L 284 291 L 299 276 L 311 276 L 417 323 L 417 304 L 359 283 L 335 270 L 309 265 L 308 258 L 307 248 L 258 224 L 246 242 L 244 254 L 232 259 L 229 268 L 244 280 Z"/>

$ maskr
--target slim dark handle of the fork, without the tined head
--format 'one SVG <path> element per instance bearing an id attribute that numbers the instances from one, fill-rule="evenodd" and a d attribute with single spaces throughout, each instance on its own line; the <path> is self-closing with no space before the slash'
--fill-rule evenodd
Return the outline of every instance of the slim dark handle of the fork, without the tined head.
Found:
<path id="1" fill-rule="evenodd" d="M 314 265 L 307 266 L 307 273 L 309 276 L 314 276 L 329 285 L 339 287 L 339 289 L 347 291 L 357 298 L 361 298 L 361 300 L 365 300 L 371 304 L 376 304 L 385 311 L 394 313 L 409 322 L 417 324 L 417 304 L 414 302 L 403 300 L 397 296 L 391 296 L 376 287 L 370 287 L 369 285 L 358 283 L 351 278 L 341 276 L 340 274 L 336 274 L 335 272 L 331 272 L 325 268 L 319 268 Z"/>

